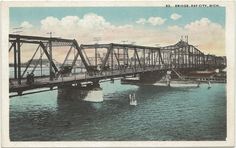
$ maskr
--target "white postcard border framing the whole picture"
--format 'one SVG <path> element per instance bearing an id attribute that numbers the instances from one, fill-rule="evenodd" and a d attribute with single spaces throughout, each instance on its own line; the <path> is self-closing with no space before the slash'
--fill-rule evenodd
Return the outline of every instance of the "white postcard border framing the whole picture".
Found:
<path id="1" fill-rule="evenodd" d="M 226 141 L 99 141 L 99 142 L 11 142 L 9 139 L 8 93 L 8 34 L 9 7 L 78 7 L 78 6 L 163 6 L 166 4 L 219 4 L 226 7 L 226 56 L 227 56 L 227 140 Z M 2 145 L 5 147 L 222 147 L 234 144 L 234 90 L 235 90 L 235 7 L 234 2 L 216 1 L 21 1 L 2 2 L 1 6 L 1 94 L 2 94 Z M 5 57 L 5 58 L 4 58 Z"/>

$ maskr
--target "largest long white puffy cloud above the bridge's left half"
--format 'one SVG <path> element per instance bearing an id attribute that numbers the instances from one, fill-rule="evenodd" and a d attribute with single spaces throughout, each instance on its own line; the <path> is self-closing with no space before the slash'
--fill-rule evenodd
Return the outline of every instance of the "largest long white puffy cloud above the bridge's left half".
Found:
<path id="1" fill-rule="evenodd" d="M 46 17 L 41 20 L 42 32 L 55 32 L 59 36 L 83 36 L 86 38 L 93 35 L 101 34 L 106 30 L 131 28 L 131 25 L 115 26 L 106 21 L 104 17 L 95 13 L 85 14 L 83 17 L 66 16 L 62 19 L 56 17 Z M 95 35 L 96 36 L 96 35 Z"/>

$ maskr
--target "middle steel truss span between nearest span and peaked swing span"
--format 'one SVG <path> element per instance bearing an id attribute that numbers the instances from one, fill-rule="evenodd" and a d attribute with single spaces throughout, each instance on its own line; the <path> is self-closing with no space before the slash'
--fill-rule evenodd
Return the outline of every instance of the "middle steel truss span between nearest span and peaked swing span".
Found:
<path id="1" fill-rule="evenodd" d="M 138 46 L 131 44 L 90 44 L 81 45 L 85 51 L 95 50 L 95 61 L 98 61 L 97 50 L 106 49 L 104 58 L 100 63 L 100 71 L 124 70 L 127 68 L 143 68 L 147 66 L 156 66 L 163 64 L 163 58 L 159 47 Z M 93 63 L 93 62 L 90 62 Z M 94 62 L 91 67 L 97 67 L 97 62 Z M 91 71 L 96 71 L 91 69 Z"/>

